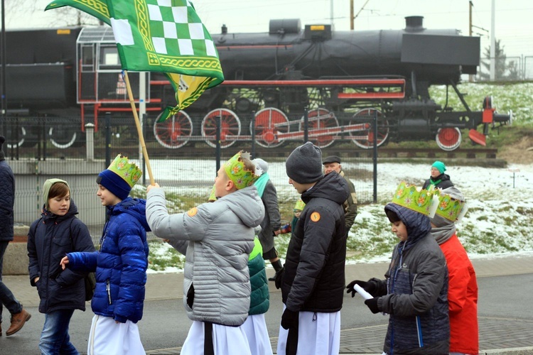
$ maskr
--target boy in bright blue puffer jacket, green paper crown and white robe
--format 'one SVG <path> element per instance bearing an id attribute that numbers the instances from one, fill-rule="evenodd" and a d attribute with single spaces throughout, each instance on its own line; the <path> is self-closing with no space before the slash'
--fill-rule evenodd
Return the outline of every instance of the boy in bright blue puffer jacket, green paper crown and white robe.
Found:
<path id="1" fill-rule="evenodd" d="M 107 208 L 99 251 L 68 253 L 61 260 L 63 269 L 96 271 L 88 355 L 145 354 L 136 323 L 143 315 L 150 229 L 146 200 L 128 197 L 141 175 L 120 154 L 99 173 L 97 196 Z"/>

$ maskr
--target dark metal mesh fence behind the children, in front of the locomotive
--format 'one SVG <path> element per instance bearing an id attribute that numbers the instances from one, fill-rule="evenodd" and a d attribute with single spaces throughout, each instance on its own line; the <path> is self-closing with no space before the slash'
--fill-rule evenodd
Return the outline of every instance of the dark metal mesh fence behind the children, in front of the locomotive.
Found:
<path id="1" fill-rule="evenodd" d="M 291 151 L 303 143 L 303 138 L 274 147 L 262 146 L 257 140 L 249 139 L 235 141 L 227 148 L 217 148 L 212 141 L 206 141 L 208 137 L 190 140 L 180 148 L 171 149 L 161 145 L 154 136 L 154 119 L 145 117 L 143 121 L 151 169 L 156 182 L 166 189 L 172 212 L 184 212 L 205 202 L 217 167 L 237 151 L 244 150 L 252 153 L 252 158 L 262 158 L 269 163 L 268 173 L 278 191 L 282 221 L 289 222 L 292 219 L 292 209 L 299 195 L 289 185 L 284 162 Z M 131 195 L 146 197 L 144 186 L 149 185 L 149 176 L 142 161 L 133 118 L 108 115 L 107 119 L 102 119 L 95 127 L 97 129 L 92 137 L 87 135 L 89 126 L 82 127 L 79 117 L 10 116 L 4 119 L 0 127 L 0 133 L 6 136 L 6 160 L 12 166 L 16 163 L 23 165 L 22 169 L 15 172 L 18 182 L 16 201 L 32 201 L 17 207 L 17 224 L 29 224 L 39 217 L 43 204 L 41 189 L 44 180 L 63 178 L 72 187 L 73 199 L 80 209 L 80 219 L 87 221 L 93 238 L 97 240 L 103 222 L 100 224 L 94 221 L 103 221 L 104 209 L 99 207 L 99 200 L 95 195 L 95 178 L 119 153 L 144 166 L 142 181 L 134 187 Z M 305 136 L 306 134 L 303 135 Z M 348 138 L 335 137 L 331 142 L 326 138 L 328 137 L 311 141 L 322 146 L 323 157 L 339 155 L 343 160 L 343 170 L 355 184 L 358 202 L 372 202 L 375 196 L 372 149 L 357 148 Z M 228 145 L 227 141 L 222 143 Z M 24 179 L 22 174 L 25 175 Z M 81 176 L 85 178 L 80 178 Z M 80 195 L 83 197 L 80 198 Z"/>

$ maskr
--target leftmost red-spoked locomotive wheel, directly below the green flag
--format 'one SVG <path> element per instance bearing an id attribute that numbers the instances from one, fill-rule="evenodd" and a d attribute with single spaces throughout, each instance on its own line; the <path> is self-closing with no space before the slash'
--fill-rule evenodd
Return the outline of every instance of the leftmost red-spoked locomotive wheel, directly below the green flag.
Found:
<path id="1" fill-rule="evenodd" d="M 181 148 L 187 144 L 192 135 L 193 121 L 185 111 L 179 111 L 163 122 L 156 120 L 154 123 L 154 136 L 165 148 Z"/>

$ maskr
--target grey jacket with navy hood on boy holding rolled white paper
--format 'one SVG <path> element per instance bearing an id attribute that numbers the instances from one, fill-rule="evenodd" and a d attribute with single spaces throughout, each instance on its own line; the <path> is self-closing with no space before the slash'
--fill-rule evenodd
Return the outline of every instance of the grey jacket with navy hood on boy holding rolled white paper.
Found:
<path id="1" fill-rule="evenodd" d="M 408 238 L 394 248 L 377 307 L 388 313 L 387 354 L 448 354 L 448 268 L 431 236 L 429 217 L 389 203 L 407 226 Z"/>

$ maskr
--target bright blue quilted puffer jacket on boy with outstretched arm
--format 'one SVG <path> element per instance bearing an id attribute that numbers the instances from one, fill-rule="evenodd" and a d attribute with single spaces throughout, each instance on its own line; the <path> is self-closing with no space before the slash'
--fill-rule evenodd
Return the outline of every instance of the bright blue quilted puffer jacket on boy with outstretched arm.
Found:
<path id="1" fill-rule="evenodd" d="M 146 200 L 127 197 L 107 207 L 100 249 L 68 253 L 72 270 L 96 271 L 92 312 L 118 322 L 139 322 L 143 316 L 148 268 Z"/>

